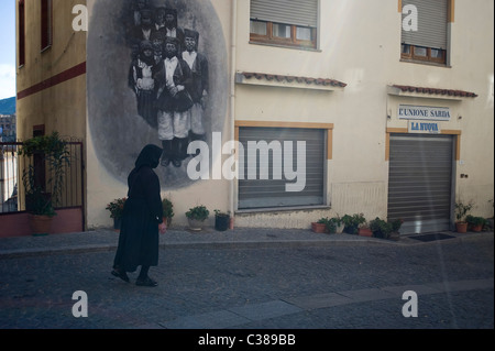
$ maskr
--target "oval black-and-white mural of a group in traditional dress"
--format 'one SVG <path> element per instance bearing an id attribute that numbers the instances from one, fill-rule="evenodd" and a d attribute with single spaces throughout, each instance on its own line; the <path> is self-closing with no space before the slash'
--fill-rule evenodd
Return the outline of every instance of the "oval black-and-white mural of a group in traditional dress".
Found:
<path id="1" fill-rule="evenodd" d="M 190 185 L 193 141 L 211 143 L 227 111 L 221 25 L 208 0 L 99 0 L 90 7 L 88 118 L 99 162 L 127 182 L 147 144 L 167 189 Z M 209 155 L 210 157 L 215 155 Z"/>

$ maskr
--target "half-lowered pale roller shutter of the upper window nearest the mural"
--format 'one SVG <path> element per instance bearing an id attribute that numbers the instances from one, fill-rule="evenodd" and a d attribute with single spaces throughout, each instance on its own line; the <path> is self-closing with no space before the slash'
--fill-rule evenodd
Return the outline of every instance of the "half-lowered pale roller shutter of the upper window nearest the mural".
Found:
<path id="1" fill-rule="evenodd" d="M 251 0 L 251 19 L 316 28 L 318 0 Z"/>

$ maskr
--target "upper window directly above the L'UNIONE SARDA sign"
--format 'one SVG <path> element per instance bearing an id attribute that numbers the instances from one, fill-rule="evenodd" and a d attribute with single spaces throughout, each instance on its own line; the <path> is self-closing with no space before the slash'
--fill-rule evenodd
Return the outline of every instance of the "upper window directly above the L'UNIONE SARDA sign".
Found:
<path id="1" fill-rule="evenodd" d="M 447 64 L 449 0 L 403 0 L 400 57 Z"/>

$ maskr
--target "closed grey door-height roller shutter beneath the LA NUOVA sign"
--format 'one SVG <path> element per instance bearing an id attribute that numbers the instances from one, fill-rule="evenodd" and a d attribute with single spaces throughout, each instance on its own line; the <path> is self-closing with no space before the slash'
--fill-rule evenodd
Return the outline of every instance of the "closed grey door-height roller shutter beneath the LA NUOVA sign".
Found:
<path id="1" fill-rule="evenodd" d="M 404 220 L 402 234 L 450 229 L 451 135 L 391 135 L 388 219 Z"/>

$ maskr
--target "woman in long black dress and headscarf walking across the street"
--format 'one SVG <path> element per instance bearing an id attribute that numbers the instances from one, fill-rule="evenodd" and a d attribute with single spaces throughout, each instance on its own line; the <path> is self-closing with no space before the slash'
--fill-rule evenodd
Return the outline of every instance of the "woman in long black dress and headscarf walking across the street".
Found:
<path id="1" fill-rule="evenodd" d="M 127 272 L 135 272 L 141 265 L 135 282 L 139 286 L 157 285 L 147 272 L 150 266 L 158 264 L 158 232 L 166 231 L 160 179 L 153 171 L 160 163 L 162 152 L 156 145 L 144 146 L 128 177 L 128 200 L 123 208 L 112 275 L 129 282 Z"/>

